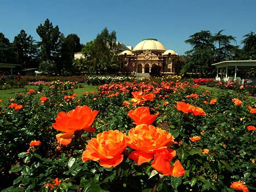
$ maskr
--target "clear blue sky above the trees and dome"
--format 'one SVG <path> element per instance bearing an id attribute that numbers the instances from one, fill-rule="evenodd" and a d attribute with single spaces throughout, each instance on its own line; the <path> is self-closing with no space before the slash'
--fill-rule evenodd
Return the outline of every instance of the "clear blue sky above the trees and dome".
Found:
<path id="1" fill-rule="evenodd" d="M 240 45 L 243 35 L 256 32 L 255 8 L 255 0 L 0 0 L 0 32 L 13 41 L 24 29 L 39 40 L 36 28 L 48 18 L 83 44 L 107 27 L 125 45 L 155 38 L 182 55 L 191 49 L 184 40 L 201 30 L 224 29 Z"/>

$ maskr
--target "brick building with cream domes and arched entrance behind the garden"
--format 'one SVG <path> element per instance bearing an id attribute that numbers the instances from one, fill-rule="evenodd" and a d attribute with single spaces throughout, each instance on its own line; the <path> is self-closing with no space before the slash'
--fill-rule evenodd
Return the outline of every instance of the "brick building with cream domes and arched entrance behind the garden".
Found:
<path id="1" fill-rule="evenodd" d="M 174 74 L 172 58 L 177 53 L 166 50 L 156 39 L 144 39 L 133 50 L 125 50 L 120 55 L 123 56 L 124 72 L 146 75 L 154 66 L 159 66 L 161 73 Z"/>

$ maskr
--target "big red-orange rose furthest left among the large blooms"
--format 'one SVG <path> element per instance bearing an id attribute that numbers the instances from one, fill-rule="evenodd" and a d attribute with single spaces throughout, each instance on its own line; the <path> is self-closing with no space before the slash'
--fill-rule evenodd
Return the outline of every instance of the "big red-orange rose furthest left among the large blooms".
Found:
<path id="1" fill-rule="evenodd" d="M 60 112 L 55 118 L 56 122 L 53 128 L 64 133 L 56 135 L 56 139 L 60 145 L 68 145 L 72 141 L 72 136 L 76 130 L 85 130 L 94 132 L 95 129 L 91 128 L 91 124 L 98 111 L 92 111 L 88 106 L 77 106 L 74 110 L 67 113 Z"/>

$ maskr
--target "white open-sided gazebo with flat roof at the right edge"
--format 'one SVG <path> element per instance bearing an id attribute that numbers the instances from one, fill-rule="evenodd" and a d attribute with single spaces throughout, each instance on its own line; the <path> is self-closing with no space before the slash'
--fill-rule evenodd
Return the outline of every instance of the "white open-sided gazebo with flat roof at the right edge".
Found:
<path id="1" fill-rule="evenodd" d="M 237 67 L 239 69 L 248 69 L 248 68 L 253 68 L 254 70 L 254 75 L 255 77 L 255 69 L 256 69 L 256 60 L 247 60 L 247 61 L 223 61 L 219 63 L 214 63 L 212 64 L 214 67 L 217 68 L 217 76 L 216 79 L 219 79 L 219 69 L 222 73 L 222 70 L 225 70 L 225 79 L 229 80 L 228 77 L 228 68 L 235 68 L 235 75 L 234 75 L 234 80 L 236 80 L 237 77 Z M 246 77 L 245 77 L 246 78 Z"/>

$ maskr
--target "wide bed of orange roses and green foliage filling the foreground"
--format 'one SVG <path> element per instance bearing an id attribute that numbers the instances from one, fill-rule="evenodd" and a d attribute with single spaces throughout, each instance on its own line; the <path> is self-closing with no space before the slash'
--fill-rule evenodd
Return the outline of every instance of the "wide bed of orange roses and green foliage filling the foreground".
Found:
<path id="1" fill-rule="evenodd" d="M 2 106 L 3 191 L 255 190 L 256 108 L 244 93 L 145 79 L 78 98 L 71 86 Z"/>

